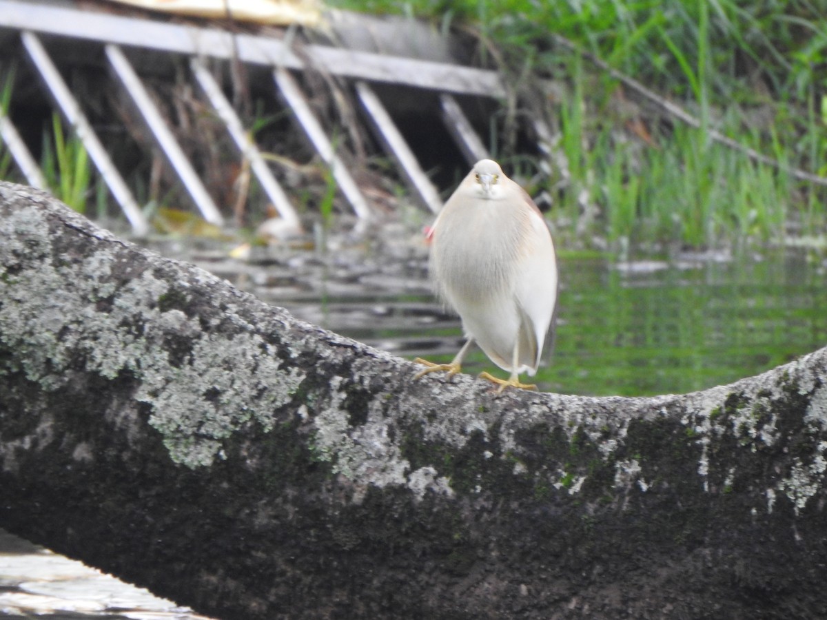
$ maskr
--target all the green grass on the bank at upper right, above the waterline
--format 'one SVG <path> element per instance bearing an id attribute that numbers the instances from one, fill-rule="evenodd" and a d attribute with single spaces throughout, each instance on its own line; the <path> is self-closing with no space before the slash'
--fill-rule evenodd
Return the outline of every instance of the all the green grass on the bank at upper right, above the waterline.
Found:
<path id="1" fill-rule="evenodd" d="M 596 237 L 703 247 L 827 233 L 827 188 L 791 174 L 827 175 L 827 9 L 820 2 L 329 3 L 472 31 L 478 59 L 512 83 L 530 75 L 562 85 L 565 97 L 533 112 L 551 119 L 565 165 L 533 189 L 552 192 L 557 234 L 571 243 Z M 698 126 L 639 104 L 639 93 L 595 58 L 683 107 Z M 715 131 L 778 165 L 720 145 Z M 514 143 L 498 136 L 506 168 L 524 164 L 507 148 Z"/>

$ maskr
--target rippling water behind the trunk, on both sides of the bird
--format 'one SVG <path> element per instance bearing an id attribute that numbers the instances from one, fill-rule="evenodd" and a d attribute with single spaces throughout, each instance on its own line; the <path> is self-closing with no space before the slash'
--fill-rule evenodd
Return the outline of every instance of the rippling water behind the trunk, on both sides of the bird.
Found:
<path id="1" fill-rule="evenodd" d="M 176 253 L 169 243 L 161 251 Z M 312 250 L 226 249 L 184 258 L 296 317 L 396 355 L 448 361 L 462 343 L 427 279 L 416 242 Z M 684 255 L 670 262 L 559 257 L 556 346 L 540 389 L 591 395 L 682 393 L 726 384 L 827 345 L 823 257 L 802 250 Z M 492 367 L 475 351 L 469 373 Z"/>

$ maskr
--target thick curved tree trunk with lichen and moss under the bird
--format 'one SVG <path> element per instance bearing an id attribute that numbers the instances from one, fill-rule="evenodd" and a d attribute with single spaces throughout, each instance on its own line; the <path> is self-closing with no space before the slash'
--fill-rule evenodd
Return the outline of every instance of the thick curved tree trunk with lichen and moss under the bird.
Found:
<path id="1" fill-rule="evenodd" d="M 827 617 L 827 350 L 509 391 L 0 183 L 0 527 L 218 618 Z"/>

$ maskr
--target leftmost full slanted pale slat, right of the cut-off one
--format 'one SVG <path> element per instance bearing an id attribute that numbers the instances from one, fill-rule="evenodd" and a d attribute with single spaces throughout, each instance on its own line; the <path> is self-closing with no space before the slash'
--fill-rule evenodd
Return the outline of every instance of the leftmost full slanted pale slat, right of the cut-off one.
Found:
<path id="1" fill-rule="evenodd" d="M 84 148 L 87 150 L 89 157 L 92 159 L 98 172 L 103 177 L 112 196 L 119 205 L 127 220 L 131 224 L 132 230 L 137 235 L 145 235 L 149 231 L 149 223 L 146 222 L 141 208 L 138 207 L 135 198 L 124 182 L 121 174 L 112 164 L 109 154 L 103 148 L 101 141 L 98 140 L 98 135 L 88 122 L 86 115 L 80 109 L 80 106 L 69 91 L 63 77 L 58 72 L 57 67 L 50 59 L 40 39 L 30 31 L 23 32 L 21 35 L 23 46 L 31 58 L 38 72 L 41 74 L 46 88 L 49 89 L 60 111 L 63 112 L 66 121 L 74 127 L 74 131 L 83 142 Z"/>

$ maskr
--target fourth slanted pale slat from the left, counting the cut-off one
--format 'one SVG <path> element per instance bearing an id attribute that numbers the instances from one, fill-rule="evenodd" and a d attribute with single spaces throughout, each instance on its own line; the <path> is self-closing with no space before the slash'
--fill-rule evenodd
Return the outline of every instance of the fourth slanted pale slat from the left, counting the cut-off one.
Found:
<path id="1" fill-rule="evenodd" d="M 227 101 L 227 97 L 221 88 L 219 88 L 218 83 L 216 83 L 213 76 L 198 58 L 190 59 L 189 64 L 193 69 L 193 74 L 198 85 L 207 96 L 210 105 L 212 105 L 213 109 L 218 113 L 218 117 L 224 122 L 232 140 L 236 143 L 238 150 L 241 151 L 241 155 L 250 162 L 253 174 L 256 174 L 256 179 L 261 183 L 261 187 L 264 189 L 267 197 L 270 198 L 270 202 L 273 203 L 275 210 L 279 212 L 279 215 L 287 222 L 299 225 L 299 215 L 293 208 L 293 204 L 290 203 L 287 194 L 284 193 L 284 189 L 275 179 L 275 176 L 273 176 L 270 167 L 261 156 L 261 151 L 256 146 L 256 143 L 252 141 L 249 133 L 244 130 L 244 127 L 241 125 L 241 119 L 232 108 L 230 102 Z"/>

